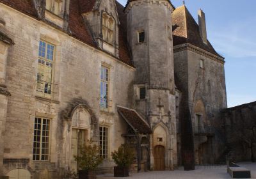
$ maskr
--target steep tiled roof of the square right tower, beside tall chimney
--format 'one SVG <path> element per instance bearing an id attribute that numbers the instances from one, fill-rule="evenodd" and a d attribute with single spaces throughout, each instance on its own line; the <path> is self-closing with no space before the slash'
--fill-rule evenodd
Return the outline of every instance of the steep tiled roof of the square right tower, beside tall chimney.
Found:
<path id="1" fill-rule="evenodd" d="M 181 45 L 184 43 L 191 43 L 196 47 L 204 49 L 205 51 L 211 52 L 216 56 L 220 56 L 211 43 L 208 41 L 205 44 L 200 36 L 199 26 L 195 19 L 189 13 L 186 6 L 180 6 L 174 10 L 172 15 L 173 22 L 173 46 Z M 223 58 L 222 56 L 220 56 Z"/>

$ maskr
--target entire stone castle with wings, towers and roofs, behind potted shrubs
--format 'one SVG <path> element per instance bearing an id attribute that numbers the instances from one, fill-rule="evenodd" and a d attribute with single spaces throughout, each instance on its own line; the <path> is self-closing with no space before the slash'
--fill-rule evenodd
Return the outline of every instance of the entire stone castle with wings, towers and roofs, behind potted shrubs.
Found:
<path id="1" fill-rule="evenodd" d="M 0 176 L 74 178 L 81 145 L 131 170 L 223 160 L 224 58 L 168 0 L 0 0 Z"/>

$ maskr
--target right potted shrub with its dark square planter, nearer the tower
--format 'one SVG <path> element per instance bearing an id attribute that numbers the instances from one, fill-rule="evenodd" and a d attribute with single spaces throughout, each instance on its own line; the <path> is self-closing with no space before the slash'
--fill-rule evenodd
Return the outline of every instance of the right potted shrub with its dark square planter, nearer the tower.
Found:
<path id="1" fill-rule="evenodd" d="M 117 151 L 111 153 L 111 156 L 117 164 L 117 166 L 114 167 L 114 176 L 129 176 L 129 167 L 134 160 L 134 152 L 131 146 L 122 144 Z"/>

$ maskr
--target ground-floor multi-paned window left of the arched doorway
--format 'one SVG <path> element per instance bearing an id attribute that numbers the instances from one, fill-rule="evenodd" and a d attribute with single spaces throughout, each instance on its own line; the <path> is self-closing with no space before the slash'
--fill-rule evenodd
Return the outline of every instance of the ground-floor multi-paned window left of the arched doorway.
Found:
<path id="1" fill-rule="evenodd" d="M 49 160 L 50 120 L 35 118 L 33 160 Z"/>

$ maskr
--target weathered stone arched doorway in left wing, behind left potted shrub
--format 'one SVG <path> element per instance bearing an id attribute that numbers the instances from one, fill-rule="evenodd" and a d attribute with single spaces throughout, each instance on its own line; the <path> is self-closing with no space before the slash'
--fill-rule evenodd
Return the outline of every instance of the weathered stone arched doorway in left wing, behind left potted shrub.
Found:
<path id="1" fill-rule="evenodd" d="M 65 125 L 63 130 L 66 136 L 65 175 L 70 176 L 77 172 L 77 162 L 74 155 L 79 154 L 81 146 L 88 140 L 98 143 L 99 120 L 95 117 L 92 108 L 83 99 L 74 99 L 61 113 Z"/>

